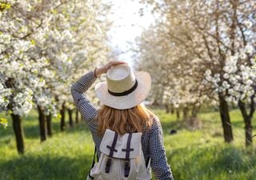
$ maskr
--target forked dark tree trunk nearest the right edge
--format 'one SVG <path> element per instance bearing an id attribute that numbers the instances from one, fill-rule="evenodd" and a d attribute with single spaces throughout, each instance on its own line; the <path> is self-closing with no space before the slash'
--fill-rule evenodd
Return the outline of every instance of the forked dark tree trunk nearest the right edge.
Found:
<path id="1" fill-rule="evenodd" d="M 242 113 L 242 118 L 243 122 L 245 122 L 245 131 L 246 131 L 246 146 L 250 146 L 253 143 L 252 139 L 252 131 L 253 131 L 253 126 L 251 124 L 251 119 L 253 118 L 254 114 L 254 97 L 251 98 L 251 103 L 250 103 L 250 114 L 247 114 L 246 112 L 246 104 L 242 101 L 238 102 L 239 109 Z"/>

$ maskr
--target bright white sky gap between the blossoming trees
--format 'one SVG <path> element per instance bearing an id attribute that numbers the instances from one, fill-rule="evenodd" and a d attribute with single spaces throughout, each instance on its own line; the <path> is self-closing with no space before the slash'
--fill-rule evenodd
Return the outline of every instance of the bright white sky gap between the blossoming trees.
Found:
<path id="1" fill-rule="evenodd" d="M 105 1 L 113 4 L 110 20 L 114 23 L 108 33 L 111 46 L 122 52 L 118 60 L 132 62 L 133 52 L 130 49 L 135 46 L 134 40 L 154 22 L 154 17 L 149 12 L 149 8 L 140 4 L 138 0 Z M 142 16 L 141 8 L 143 9 Z"/>

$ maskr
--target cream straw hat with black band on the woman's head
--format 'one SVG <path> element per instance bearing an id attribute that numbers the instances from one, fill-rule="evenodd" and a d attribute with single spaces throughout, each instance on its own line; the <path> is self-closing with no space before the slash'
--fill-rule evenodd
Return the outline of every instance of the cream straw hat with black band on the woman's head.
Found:
<path id="1" fill-rule="evenodd" d="M 150 74 L 133 71 L 130 66 L 112 66 L 106 73 L 106 82 L 99 82 L 95 91 L 100 102 L 118 110 L 125 110 L 143 102 L 150 92 Z"/>

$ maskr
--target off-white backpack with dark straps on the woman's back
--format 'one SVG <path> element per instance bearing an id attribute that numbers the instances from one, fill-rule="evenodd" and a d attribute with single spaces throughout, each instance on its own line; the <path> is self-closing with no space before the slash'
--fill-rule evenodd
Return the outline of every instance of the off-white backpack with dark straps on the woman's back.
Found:
<path id="1" fill-rule="evenodd" d="M 87 180 L 150 180 L 150 170 L 142 152 L 142 133 L 118 135 L 106 129 L 100 145 L 102 152 Z"/>

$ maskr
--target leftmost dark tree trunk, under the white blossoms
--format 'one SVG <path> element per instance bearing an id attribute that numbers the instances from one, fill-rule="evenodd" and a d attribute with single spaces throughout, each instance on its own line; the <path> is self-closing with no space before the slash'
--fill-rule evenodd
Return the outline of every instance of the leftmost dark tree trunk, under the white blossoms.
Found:
<path id="1" fill-rule="evenodd" d="M 10 114 L 13 119 L 13 128 L 16 138 L 16 146 L 18 154 L 24 154 L 24 140 L 23 140 L 23 130 L 22 130 L 22 118 L 16 114 Z"/>

